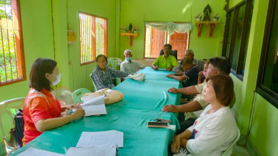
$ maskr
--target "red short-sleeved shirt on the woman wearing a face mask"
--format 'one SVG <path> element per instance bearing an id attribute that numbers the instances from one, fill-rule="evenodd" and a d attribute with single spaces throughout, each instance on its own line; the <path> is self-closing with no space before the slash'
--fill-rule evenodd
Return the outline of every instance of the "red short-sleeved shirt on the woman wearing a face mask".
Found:
<path id="1" fill-rule="evenodd" d="M 35 128 L 35 123 L 40 119 L 51 119 L 61 116 L 61 107 L 58 100 L 51 92 L 42 89 L 41 92 L 30 89 L 23 107 L 24 117 L 24 144 L 32 141 L 42 134 Z"/>

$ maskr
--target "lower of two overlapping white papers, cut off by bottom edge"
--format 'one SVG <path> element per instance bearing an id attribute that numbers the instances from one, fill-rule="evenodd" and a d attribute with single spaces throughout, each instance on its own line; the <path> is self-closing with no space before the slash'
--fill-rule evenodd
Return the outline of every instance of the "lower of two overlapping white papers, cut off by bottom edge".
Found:
<path id="1" fill-rule="evenodd" d="M 76 156 L 76 155 L 97 155 L 97 156 L 116 156 L 117 145 L 101 145 L 92 147 L 71 147 L 67 149 L 65 156 Z"/>

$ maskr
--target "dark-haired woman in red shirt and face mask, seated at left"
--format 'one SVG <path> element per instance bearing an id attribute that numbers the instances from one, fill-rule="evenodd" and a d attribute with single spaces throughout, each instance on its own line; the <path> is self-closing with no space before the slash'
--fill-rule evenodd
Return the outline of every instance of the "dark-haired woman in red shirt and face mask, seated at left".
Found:
<path id="1" fill-rule="evenodd" d="M 58 128 L 85 115 L 80 105 L 60 106 L 56 99 L 52 85 L 60 82 L 60 72 L 57 62 L 49 58 L 38 58 L 33 62 L 30 71 L 31 87 L 23 107 L 24 116 L 24 145 L 28 144 L 46 130 Z M 61 116 L 65 110 L 76 111 L 68 116 Z"/>

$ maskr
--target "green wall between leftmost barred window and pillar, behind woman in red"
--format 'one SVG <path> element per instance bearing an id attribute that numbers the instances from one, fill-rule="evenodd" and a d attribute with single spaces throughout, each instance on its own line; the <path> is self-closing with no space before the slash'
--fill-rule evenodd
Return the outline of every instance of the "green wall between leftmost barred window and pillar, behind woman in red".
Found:
<path id="1" fill-rule="evenodd" d="M 33 61 L 38 57 L 54 58 L 51 1 L 22 0 L 20 3 L 27 80 L 0 87 L 0 101 L 26 96 L 29 90 L 28 75 Z M 4 128 L 8 132 L 12 127 L 12 121 L 8 118 L 4 121 L 7 123 Z"/>

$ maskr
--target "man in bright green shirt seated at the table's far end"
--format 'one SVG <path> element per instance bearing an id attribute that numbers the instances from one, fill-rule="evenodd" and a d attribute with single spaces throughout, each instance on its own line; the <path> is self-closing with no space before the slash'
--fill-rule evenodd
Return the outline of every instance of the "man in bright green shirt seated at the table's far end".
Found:
<path id="1" fill-rule="evenodd" d="M 178 64 L 176 58 L 170 55 L 170 51 L 172 49 L 171 44 L 165 44 L 163 46 L 164 55 L 160 55 L 156 58 L 156 61 L 152 64 L 152 69 L 158 70 L 158 68 L 167 69 L 167 71 L 172 71 L 174 67 Z"/>

